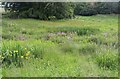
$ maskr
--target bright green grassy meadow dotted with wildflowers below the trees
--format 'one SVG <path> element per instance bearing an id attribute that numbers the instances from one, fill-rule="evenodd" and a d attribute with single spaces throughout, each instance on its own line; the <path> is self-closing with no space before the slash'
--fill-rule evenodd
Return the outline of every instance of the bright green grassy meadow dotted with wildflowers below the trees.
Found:
<path id="1" fill-rule="evenodd" d="M 117 77 L 118 16 L 2 23 L 5 77 Z"/>

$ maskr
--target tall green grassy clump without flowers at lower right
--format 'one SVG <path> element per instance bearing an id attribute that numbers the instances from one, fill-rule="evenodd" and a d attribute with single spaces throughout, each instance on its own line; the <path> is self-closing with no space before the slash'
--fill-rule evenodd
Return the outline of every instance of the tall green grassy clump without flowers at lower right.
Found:
<path id="1" fill-rule="evenodd" d="M 97 53 L 97 64 L 103 69 L 118 69 L 118 54 L 116 52 Z"/>

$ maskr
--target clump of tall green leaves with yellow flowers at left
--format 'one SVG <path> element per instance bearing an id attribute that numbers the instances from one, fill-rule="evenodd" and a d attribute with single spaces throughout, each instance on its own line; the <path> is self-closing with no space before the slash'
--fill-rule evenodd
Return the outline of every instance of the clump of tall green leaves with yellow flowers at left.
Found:
<path id="1" fill-rule="evenodd" d="M 2 60 L 3 66 L 14 64 L 17 67 L 21 67 L 23 66 L 23 60 L 29 59 L 30 55 L 31 52 L 20 45 L 16 45 L 14 49 L 7 48 L 3 45 L 0 60 Z"/>

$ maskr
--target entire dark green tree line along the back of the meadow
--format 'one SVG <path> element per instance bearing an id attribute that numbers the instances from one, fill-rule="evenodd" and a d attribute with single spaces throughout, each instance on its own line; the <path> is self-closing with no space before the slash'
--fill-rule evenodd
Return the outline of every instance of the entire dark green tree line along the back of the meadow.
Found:
<path id="1" fill-rule="evenodd" d="M 118 2 L 7 2 L 3 3 L 10 18 L 74 18 L 75 15 L 119 14 Z"/>

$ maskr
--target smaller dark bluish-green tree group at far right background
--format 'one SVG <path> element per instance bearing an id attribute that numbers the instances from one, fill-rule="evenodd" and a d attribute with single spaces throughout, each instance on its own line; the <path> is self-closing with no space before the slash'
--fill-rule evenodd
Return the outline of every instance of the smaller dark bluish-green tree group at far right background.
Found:
<path id="1" fill-rule="evenodd" d="M 75 3 L 76 15 L 91 16 L 96 14 L 119 14 L 118 2 Z"/>

